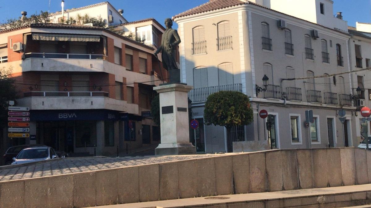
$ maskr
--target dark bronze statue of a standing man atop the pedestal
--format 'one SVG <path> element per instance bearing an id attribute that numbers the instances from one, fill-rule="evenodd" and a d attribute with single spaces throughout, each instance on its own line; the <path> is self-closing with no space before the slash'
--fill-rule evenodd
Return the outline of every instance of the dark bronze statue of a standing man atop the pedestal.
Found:
<path id="1" fill-rule="evenodd" d="M 180 38 L 178 31 L 171 28 L 173 20 L 170 18 L 165 19 L 165 26 L 166 30 L 162 34 L 161 45 L 155 52 L 155 56 L 157 57 L 158 53 L 162 54 L 162 65 L 170 74 L 170 82 L 168 83 L 180 83 L 180 69 L 176 61 L 176 49 L 180 43 Z"/>

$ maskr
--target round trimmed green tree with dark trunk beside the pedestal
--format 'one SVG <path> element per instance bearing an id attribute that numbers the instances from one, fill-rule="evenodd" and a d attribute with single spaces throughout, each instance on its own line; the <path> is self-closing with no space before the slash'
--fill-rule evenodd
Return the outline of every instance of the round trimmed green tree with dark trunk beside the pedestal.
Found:
<path id="1" fill-rule="evenodd" d="M 220 91 L 209 95 L 205 103 L 204 122 L 227 128 L 228 152 L 232 151 L 231 128 L 253 121 L 249 97 L 240 92 Z"/>

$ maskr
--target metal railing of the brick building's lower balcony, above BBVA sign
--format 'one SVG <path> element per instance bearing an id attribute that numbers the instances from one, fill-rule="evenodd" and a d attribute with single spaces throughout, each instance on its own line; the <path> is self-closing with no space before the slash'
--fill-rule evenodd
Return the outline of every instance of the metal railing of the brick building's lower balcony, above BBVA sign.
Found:
<path id="1" fill-rule="evenodd" d="M 108 97 L 106 92 L 41 92 L 24 93 L 24 97 Z"/>

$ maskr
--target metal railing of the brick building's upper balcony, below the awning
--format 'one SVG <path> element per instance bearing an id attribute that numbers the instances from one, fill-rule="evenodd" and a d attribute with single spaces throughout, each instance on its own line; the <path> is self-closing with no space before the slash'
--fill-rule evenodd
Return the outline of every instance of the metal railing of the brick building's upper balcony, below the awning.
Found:
<path id="1" fill-rule="evenodd" d="M 108 56 L 101 54 L 68 54 L 68 53 L 26 53 L 25 58 L 68 58 L 68 59 L 103 59 Z"/>

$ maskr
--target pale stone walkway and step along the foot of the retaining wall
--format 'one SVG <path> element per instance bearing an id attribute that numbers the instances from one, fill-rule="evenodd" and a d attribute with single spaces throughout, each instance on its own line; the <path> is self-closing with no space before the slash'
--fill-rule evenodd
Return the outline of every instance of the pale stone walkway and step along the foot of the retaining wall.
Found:
<path id="1" fill-rule="evenodd" d="M 224 199 L 207 199 L 207 198 Z M 174 199 L 166 201 L 140 202 L 133 204 L 118 204 L 100 206 L 100 208 L 180 208 L 180 207 L 303 207 L 311 203 L 326 204 L 337 202 L 347 204 L 349 201 L 359 201 L 371 198 L 371 184 L 352 185 L 330 188 L 310 188 L 291 191 L 262 192 L 250 194 L 222 195 L 216 197 L 198 197 Z M 268 203 L 270 202 L 270 203 Z M 267 203 L 269 204 L 267 206 Z M 299 203 L 299 204 L 298 204 Z M 228 205 L 228 206 L 227 206 Z M 232 206 L 233 205 L 233 206 Z M 325 207 L 331 207 L 325 206 Z M 347 207 L 347 206 L 344 206 Z M 363 207 L 363 206 L 362 206 Z M 366 205 L 365 207 L 370 207 Z"/>

